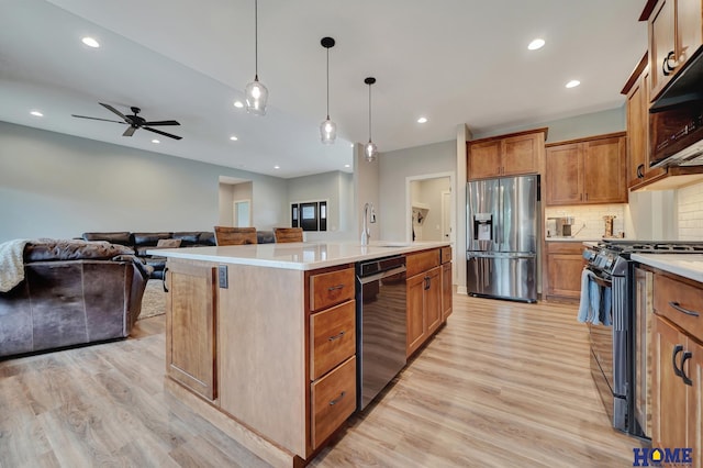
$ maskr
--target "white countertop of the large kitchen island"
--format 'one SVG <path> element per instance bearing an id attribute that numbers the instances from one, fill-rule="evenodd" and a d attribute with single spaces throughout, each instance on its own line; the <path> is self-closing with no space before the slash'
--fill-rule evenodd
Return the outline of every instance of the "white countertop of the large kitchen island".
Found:
<path id="1" fill-rule="evenodd" d="M 298 242 L 287 244 L 226 245 L 216 247 L 155 248 L 149 255 L 219 264 L 311 270 L 354 261 L 408 254 L 450 245 L 448 242 Z"/>

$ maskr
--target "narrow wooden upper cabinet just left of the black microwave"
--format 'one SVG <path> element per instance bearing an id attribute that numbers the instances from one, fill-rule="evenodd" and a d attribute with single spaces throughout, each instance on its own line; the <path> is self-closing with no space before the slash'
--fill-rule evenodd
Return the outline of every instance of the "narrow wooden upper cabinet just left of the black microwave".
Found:
<path id="1" fill-rule="evenodd" d="M 627 97 L 627 187 L 665 172 L 649 168 L 649 56 L 641 57 L 623 87 Z"/>

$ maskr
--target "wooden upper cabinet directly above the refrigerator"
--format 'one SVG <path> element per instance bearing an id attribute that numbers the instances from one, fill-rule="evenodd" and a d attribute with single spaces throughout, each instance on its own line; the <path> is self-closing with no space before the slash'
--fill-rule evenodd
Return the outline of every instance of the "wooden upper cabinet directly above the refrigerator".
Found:
<path id="1" fill-rule="evenodd" d="M 469 180 L 539 174 L 547 129 L 467 142 Z"/>

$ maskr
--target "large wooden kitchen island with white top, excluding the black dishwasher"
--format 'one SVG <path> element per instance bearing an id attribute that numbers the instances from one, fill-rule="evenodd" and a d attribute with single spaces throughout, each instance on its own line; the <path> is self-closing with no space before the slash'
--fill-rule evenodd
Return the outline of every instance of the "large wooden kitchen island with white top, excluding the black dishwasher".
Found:
<path id="1" fill-rule="evenodd" d="M 149 253 L 168 259 L 166 389 L 274 466 L 304 465 L 356 411 L 357 261 L 405 256 L 408 355 L 451 312 L 448 243 Z"/>

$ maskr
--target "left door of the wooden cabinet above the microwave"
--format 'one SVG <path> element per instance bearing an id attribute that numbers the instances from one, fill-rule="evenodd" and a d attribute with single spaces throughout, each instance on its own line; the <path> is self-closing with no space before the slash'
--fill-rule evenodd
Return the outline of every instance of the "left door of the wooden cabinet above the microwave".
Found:
<path id="1" fill-rule="evenodd" d="M 650 99 L 652 100 L 671 79 L 672 71 L 669 71 L 670 68 L 666 64 L 673 65 L 676 60 L 674 8 L 674 0 L 660 0 L 649 20 Z M 672 60 L 668 60 L 669 57 Z"/>

